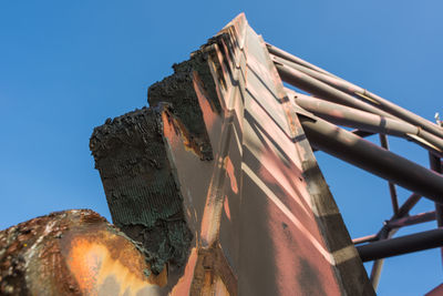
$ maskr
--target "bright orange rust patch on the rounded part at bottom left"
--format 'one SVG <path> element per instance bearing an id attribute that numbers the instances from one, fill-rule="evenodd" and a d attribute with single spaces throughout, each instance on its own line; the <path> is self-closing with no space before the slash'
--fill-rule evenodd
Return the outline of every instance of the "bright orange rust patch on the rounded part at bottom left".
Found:
<path id="1" fill-rule="evenodd" d="M 167 268 L 159 275 L 151 274 L 143 255 L 124 237 L 104 227 L 90 227 L 68 233 L 66 265 L 76 279 L 80 290 L 97 295 L 106 278 L 112 277 L 120 287 L 119 294 L 136 295 L 150 286 L 164 286 Z"/>

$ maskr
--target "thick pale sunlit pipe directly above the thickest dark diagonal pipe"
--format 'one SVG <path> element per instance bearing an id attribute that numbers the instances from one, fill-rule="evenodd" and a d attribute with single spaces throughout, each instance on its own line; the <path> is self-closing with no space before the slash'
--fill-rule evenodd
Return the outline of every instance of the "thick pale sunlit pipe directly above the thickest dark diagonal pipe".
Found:
<path id="1" fill-rule="evenodd" d="M 383 118 L 365 111 L 327 102 L 296 93 L 295 101 L 302 109 L 334 124 L 360 130 L 401 136 L 413 141 L 430 152 L 443 156 L 443 140 L 401 120 Z"/>

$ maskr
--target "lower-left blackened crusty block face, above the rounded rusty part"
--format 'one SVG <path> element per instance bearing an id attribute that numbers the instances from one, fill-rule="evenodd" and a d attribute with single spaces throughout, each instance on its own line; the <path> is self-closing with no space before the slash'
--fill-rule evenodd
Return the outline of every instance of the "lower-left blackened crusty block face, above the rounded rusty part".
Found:
<path id="1" fill-rule="evenodd" d="M 109 119 L 90 142 L 114 224 L 143 244 L 156 274 L 183 266 L 192 241 L 162 136 L 163 108 Z"/>

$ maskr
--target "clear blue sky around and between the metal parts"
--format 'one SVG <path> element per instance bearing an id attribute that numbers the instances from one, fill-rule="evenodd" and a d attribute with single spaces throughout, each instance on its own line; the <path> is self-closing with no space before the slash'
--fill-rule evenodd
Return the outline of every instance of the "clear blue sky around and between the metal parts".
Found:
<path id="1" fill-rule="evenodd" d="M 68 208 L 110 218 L 93 127 L 145 105 L 152 83 L 239 12 L 277 47 L 429 120 L 443 113 L 441 0 L 0 1 L 0 229 Z M 422 149 L 391 147 L 427 166 Z M 387 183 L 316 155 L 351 236 L 375 233 L 392 214 Z M 385 262 L 379 295 L 442 282 L 439 251 L 400 256 Z"/>

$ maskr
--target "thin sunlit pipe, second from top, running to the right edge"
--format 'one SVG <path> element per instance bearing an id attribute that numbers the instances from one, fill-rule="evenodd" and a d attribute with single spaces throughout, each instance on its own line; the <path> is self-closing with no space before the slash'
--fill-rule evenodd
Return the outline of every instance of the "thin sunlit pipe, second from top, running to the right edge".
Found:
<path id="1" fill-rule="evenodd" d="M 284 58 L 284 57 L 280 57 Z M 285 59 L 285 58 L 284 58 Z M 434 134 L 436 136 L 443 137 L 443 129 L 433 122 L 430 122 L 415 113 L 412 113 L 411 111 L 403 109 L 374 93 L 371 93 L 367 91 L 365 89 L 362 89 L 356 84 L 352 84 L 343 79 L 337 78 L 337 76 L 331 76 L 330 74 L 324 74 L 321 71 L 312 71 L 311 69 L 303 67 L 302 64 L 292 62 L 289 59 L 286 59 L 284 61 L 282 59 L 276 58 L 275 61 L 278 63 L 286 64 L 293 70 L 300 71 L 305 74 L 308 74 L 309 76 L 317 79 L 328 85 L 331 85 L 336 88 L 337 90 L 340 90 L 347 94 L 350 95 L 357 95 L 360 100 L 363 100 L 365 102 L 369 102 L 372 105 L 375 105 L 378 109 L 383 110 L 388 112 L 389 114 L 396 116 L 399 119 L 402 119 L 411 124 L 418 125 L 425 131 L 430 132 L 431 134 Z M 279 70 L 279 68 L 277 68 Z M 321 69 L 320 69 L 321 70 Z M 288 81 L 287 81 L 288 82 Z M 288 82 L 290 83 L 290 82 Z"/>

